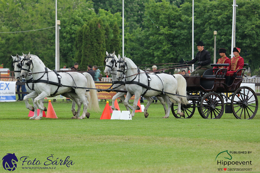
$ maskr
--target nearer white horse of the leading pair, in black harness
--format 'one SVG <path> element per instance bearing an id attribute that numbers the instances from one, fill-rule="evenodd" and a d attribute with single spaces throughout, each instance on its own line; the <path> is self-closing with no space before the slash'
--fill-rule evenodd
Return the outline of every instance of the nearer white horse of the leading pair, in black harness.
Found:
<path id="1" fill-rule="evenodd" d="M 30 53 L 28 55 L 23 54 L 23 56 L 24 58 L 20 76 L 27 77 L 29 71 L 32 70 L 34 89 L 35 92 L 39 94 L 39 96 L 36 96 L 34 99 L 34 103 L 40 110 L 46 111 L 46 107 L 39 105 L 39 99 L 62 94 L 63 96 L 74 100 L 78 105 L 78 111 L 74 116 L 75 118 L 83 119 L 86 116 L 87 118 L 89 117 L 90 114 L 87 113 L 87 106 L 89 104 L 88 100 L 90 100 L 91 106 L 95 111 L 100 111 L 96 91 L 94 89 L 90 90 L 91 98 L 85 96 L 87 86 L 95 88 L 95 83 L 92 77 L 88 80 L 87 78 L 89 75 L 78 72 L 55 73 L 54 71 L 46 68 L 38 56 L 30 55 Z M 88 82 L 92 84 L 88 85 Z M 30 93 L 26 95 L 24 99 L 27 100 L 32 97 L 34 97 L 34 95 Z M 82 103 L 84 105 L 84 109 L 82 115 L 79 117 Z"/>

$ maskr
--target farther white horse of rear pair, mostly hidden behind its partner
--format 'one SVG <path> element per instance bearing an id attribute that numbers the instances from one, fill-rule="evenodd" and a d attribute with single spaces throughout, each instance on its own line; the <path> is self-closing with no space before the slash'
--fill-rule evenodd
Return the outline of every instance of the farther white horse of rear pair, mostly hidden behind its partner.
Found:
<path id="1" fill-rule="evenodd" d="M 109 75 L 109 74 L 111 73 L 112 81 L 115 82 L 115 84 L 113 85 L 113 88 L 116 87 L 116 89 L 118 89 L 118 90 L 126 90 L 125 85 L 124 85 L 124 84 L 122 85 L 122 82 L 119 82 L 119 83 L 118 83 L 118 80 L 117 80 L 117 75 L 116 75 L 116 72 L 117 72 L 117 70 L 118 70 L 118 67 L 117 67 L 117 65 L 116 65 L 117 61 L 118 61 L 118 58 L 117 58 L 117 56 L 115 55 L 115 52 L 110 53 L 110 54 L 109 54 L 108 52 L 106 52 L 106 58 L 105 58 L 106 67 L 105 67 L 104 73 L 105 73 L 106 75 Z M 117 86 L 119 86 L 119 87 L 117 87 Z M 113 96 L 113 98 L 112 98 L 112 106 L 111 106 L 111 108 L 112 108 L 113 110 L 117 110 L 117 109 L 115 108 L 115 100 L 116 100 L 118 97 L 120 97 L 120 99 L 122 100 L 122 102 L 124 102 L 124 100 L 125 100 L 124 95 L 125 95 L 124 92 L 117 92 L 117 94 L 116 94 L 115 96 Z M 144 96 L 144 98 L 146 98 L 147 101 L 148 101 L 147 106 L 145 106 L 145 108 L 144 108 L 144 110 L 143 110 L 143 111 L 144 111 L 144 117 L 147 118 L 148 115 L 149 115 L 149 114 L 147 113 L 147 109 L 148 109 L 149 105 L 152 103 L 152 101 L 153 101 L 154 99 L 153 99 L 152 97 L 147 97 L 147 96 Z M 166 114 L 167 108 L 166 108 L 166 105 L 165 105 L 165 101 L 164 101 L 161 97 L 158 97 L 158 100 L 162 103 L 163 108 L 164 108 L 164 110 L 165 110 L 165 114 Z M 133 106 L 129 105 L 128 103 L 127 103 L 127 105 L 125 105 L 125 106 L 126 106 L 126 109 L 127 109 L 127 110 L 129 110 L 129 108 L 130 108 L 131 110 L 133 110 Z M 128 107 L 129 107 L 129 108 L 128 108 Z M 129 111 L 130 111 L 130 110 L 129 110 Z"/>

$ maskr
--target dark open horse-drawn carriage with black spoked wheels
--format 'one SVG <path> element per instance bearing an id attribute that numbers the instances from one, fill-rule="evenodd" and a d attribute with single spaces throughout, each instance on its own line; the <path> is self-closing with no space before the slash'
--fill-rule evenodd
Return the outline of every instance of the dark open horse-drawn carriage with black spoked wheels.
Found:
<path id="1" fill-rule="evenodd" d="M 222 64 L 221 66 L 228 66 Z M 219 67 L 220 64 L 211 64 Z M 244 67 L 248 64 L 244 64 Z M 214 71 L 213 71 L 214 70 Z M 253 119 L 258 110 L 258 99 L 254 90 L 240 86 L 245 68 L 237 71 L 237 76 L 230 86 L 225 84 L 227 69 L 207 69 L 202 76 L 184 76 L 187 81 L 188 105 L 181 105 L 185 118 L 191 118 L 196 108 L 202 118 L 219 119 L 224 113 L 233 113 L 237 119 Z M 251 77 L 254 78 L 255 76 Z M 177 105 L 172 103 L 172 113 L 176 118 Z"/>

